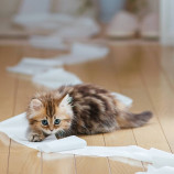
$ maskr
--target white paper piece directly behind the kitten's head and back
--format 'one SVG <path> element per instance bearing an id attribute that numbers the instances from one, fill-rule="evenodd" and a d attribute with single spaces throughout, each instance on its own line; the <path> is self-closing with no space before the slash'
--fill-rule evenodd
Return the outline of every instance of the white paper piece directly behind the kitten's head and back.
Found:
<path id="1" fill-rule="evenodd" d="M 50 69 L 45 73 L 35 75 L 32 81 L 50 89 L 56 89 L 63 85 L 77 85 L 83 83 L 76 75 L 63 68 Z"/>

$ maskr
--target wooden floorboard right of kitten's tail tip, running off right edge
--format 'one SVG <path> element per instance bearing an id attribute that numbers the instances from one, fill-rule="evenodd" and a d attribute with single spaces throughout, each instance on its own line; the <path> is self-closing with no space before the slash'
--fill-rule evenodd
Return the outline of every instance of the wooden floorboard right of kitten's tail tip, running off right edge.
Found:
<path id="1" fill-rule="evenodd" d="M 150 74 L 149 70 L 145 70 L 145 68 L 148 68 L 145 66 L 142 69 L 142 76 L 152 100 L 152 106 L 157 113 L 162 131 L 165 134 L 166 142 L 168 143 L 171 151 L 174 152 L 174 138 L 172 135 L 172 132 L 174 131 L 174 99 L 172 97 L 174 95 L 174 90 L 171 87 L 165 74 L 152 57 L 154 55 L 149 53 L 150 47 L 146 47 L 145 51 L 148 55 L 148 63 L 145 65 L 153 68 L 153 70 L 151 70 Z"/>

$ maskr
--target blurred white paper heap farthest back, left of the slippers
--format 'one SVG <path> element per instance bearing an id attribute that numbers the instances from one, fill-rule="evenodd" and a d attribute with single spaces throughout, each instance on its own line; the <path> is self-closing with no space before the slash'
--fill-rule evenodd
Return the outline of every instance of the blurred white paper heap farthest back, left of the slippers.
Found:
<path id="1" fill-rule="evenodd" d="M 58 36 L 66 40 L 90 37 L 100 32 L 100 26 L 91 18 L 58 13 L 19 14 L 15 15 L 13 22 L 33 33 L 46 32 L 50 34 L 48 37 Z"/>

